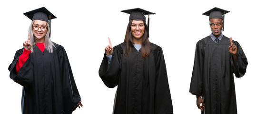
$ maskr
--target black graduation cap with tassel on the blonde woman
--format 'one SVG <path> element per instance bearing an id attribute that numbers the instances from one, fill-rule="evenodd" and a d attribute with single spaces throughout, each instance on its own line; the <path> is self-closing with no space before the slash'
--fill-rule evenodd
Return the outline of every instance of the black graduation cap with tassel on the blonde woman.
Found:
<path id="1" fill-rule="evenodd" d="M 50 28 L 50 20 L 55 19 L 55 17 L 49 10 L 47 10 L 45 7 L 36 9 L 36 10 L 31 10 L 29 12 L 23 13 L 25 16 L 27 16 L 29 19 L 32 21 L 35 19 L 46 21 L 49 23 L 49 28 Z M 48 21 L 49 20 L 49 21 Z M 50 32 L 49 32 L 50 36 Z"/>

